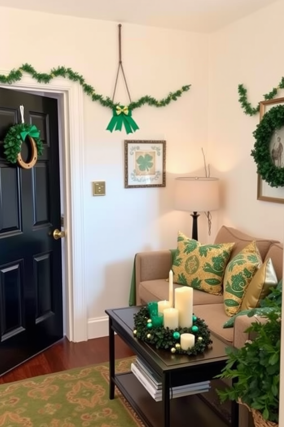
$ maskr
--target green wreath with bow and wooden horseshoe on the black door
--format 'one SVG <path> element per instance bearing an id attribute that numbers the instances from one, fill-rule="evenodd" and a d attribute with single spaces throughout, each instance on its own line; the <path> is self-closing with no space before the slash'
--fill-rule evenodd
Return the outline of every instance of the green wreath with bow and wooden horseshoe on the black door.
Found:
<path id="1" fill-rule="evenodd" d="M 31 144 L 31 158 L 28 162 L 24 162 L 21 156 L 22 143 L 26 137 L 29 138 Z M 40 140 L 40 131 L 35 125 L 28 123 L 19 123 L 11 126 L 7 132 L 4 141 L 4 154 L 10 163 L 18 163 L 24 169 L 29 169 L 34 166 L 37 161 L 37 156 L 43 153 L 43 143 Z"/>

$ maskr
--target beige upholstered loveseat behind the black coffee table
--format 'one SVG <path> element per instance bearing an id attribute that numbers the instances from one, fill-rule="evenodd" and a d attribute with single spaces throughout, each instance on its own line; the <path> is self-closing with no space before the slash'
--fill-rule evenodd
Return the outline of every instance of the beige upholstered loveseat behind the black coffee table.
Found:
<path id="1" fill-rule="evenodd" d="M 214 243 L 235 242 L 231 257 L 247 246 L 252 240 L 256 240 L 262 260 L 271 258 L 278 281 L 282 278 L 283 268 L 283 244 L 276 240 L 261 239 L 244 234 L 241 231 L 222 226 Z M 169 250 L 141 252 L 136 254 L 136 305 L 146 304 L 149 301 L 161 301 L 168 299 L 169 283 L 166 278 L 172 268 L 172 253 Z M 174 284 L 174 288 L 181 285 Z M 193 290 L 193 311 L 196 316 L 204 319 L 212 332 L 216 333 L 228 344 L 241 347 L 249 338 L 244 331 L 250 326 L 253 318 L 238 316 L 235 319 L 234 328 L 223 328 L 229 319 L 224 310 L 223 296 L 211 295 L 200 290 Z M 245 419 L 245 411 L 241 411 L 240 426 L 245 427 L 248 421 Z"/>

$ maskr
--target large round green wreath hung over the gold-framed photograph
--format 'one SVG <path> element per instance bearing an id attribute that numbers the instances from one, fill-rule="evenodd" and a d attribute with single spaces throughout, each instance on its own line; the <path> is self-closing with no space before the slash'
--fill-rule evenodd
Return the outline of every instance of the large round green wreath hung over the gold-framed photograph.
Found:
<path id="1" fill-rule="evenodd" d="M 270 187 L 284 186 L 284 167 L 275 165 L 273 155 L 275 150 L 283 152 L 281 137 L 277 130 L 284 126 L 284 105 L 277 105 L 270 108 L 258 123 L 253 136 L 255 137 L 254 149 L 251 152 L 257 164 L 257 173 L 266 181 Z M 270 151 L 271 139 L 275 135 L 278 146 Z"/>

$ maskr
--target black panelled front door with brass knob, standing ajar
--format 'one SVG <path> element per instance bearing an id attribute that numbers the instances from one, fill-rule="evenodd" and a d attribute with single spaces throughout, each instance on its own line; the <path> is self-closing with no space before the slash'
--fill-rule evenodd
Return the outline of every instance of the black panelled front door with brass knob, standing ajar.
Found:
<path id="1" fill-rule="evenodd" d="M 43 155 L 32 169 L 6 161 L 9 127 L 40 130 Z M 30 144 L 22 145 L 29 158 Z M 57 100 L 0 88 L 0 374 L 63 336 Z"/>

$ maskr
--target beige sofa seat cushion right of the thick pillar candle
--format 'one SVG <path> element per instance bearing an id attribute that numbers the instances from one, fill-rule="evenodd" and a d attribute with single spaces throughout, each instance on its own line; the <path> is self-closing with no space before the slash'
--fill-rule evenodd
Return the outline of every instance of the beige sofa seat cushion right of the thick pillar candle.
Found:
<path id="1" fill-rule="evenodd" d="M 233 328 L 223 328 L 224 323 L 228 319 L 223 304 L 195 305 L 193 312 L 195 316 L 204 319 L 206 325 L 216 335 L 228 342 L 233 341 Z"/>

